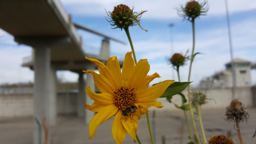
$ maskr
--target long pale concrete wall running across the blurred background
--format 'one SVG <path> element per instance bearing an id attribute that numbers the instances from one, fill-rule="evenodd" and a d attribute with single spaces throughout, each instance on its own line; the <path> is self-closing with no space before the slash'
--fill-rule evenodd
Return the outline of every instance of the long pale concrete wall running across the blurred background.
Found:
<path id="1" fill-rule="evenodd" d="M 202 109 L 225 108 L 232 100 L 232 89 L 207 89 L 201 90 L 207 95 L 208 103 Z M 187 95 L 187 91 L 183 92 Z M 58 93 L 57 112 L 76 113 L 78 93 L 62 92 Z M 256 86 L 241 87 L 235 89 L 235 99 L 241 101 L 247 107 L 256 107 Z M 162 102 L 163 108 L 157 110 L 177 110 L 166 98 L 158 98 Z M 172 102 L 181 104 L 180 96 L 174 95 Z M 14 117 L 33 115 L 33 94 L 0 94 L 0 117 Z M 150 108 L 152 109 L 152 108 Z M 155 109 L 155 108 L 154 108 Z"/>

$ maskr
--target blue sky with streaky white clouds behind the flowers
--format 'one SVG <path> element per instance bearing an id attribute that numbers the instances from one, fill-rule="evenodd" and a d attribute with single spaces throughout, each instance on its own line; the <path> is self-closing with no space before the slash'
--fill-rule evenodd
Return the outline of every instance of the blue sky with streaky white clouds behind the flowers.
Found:
<path id="1" fill-rule="evenodd" d="M 149 74 L 158 72 L 161 78 L 175 79 L 177 76 L 165 58 L 171 52 L 183 54 L 192 48 L 192 26 L 177 15 L 175 8 L 185 5 L 187 0 L 61 0 L 67 14 L 72 15 L 72 21 L 102 34 L 125 41 L 122 45 L 110 41 L 111 55 L 122 59 L 126 52 L 131 51 L 124 31 L 111 29 L 106 20 L 106 11 L 113 11 L 113 6 L 126 4 L 134 11 L 148 10 L 141 17 L 141 26 L 130 27 L 137 59 L 146 58 L 151 65 Z M 256 63 L 256 1 L 227 0 L 232 35 L 233 57 Z M 224 70 L 224 64 L 229 62 L 230 47 L 228 41 L 227 19 L 224 0 L 209 0 L 209 11 L 195 21 L 197 55 L 192 67 L 191 80 L 194 85 L 202 78 Z M 173 23 L 171 28 L 169 24 Z M 84 51 L 99 54 L 102 37 L 78 30 L 82 36 Z M 13 37 L 0 30 L 0 84 L 33 81 L 34 74 L 29 68 L 21 67 L 24 57 L 31 55 L 29 46 L 20 45 Z M 172 38 L 171 38 L 172 37 Z M 172 40 L 171 40 L 172 39 Z M 172 48 L 172 51 L 171 51 Z M 181 80 L 187 81 L 188 65 L 180 68 Z M 83 69 L 83 68 L 81 68 Z M 174 73 L 174 74 L 173 74 Z M 256 84 L 256 70 L 251 70 L 252 83 Z M 64 81 L 77 81 L 78 75 L 68 71 L 58 71 L 58 77 Z"/>

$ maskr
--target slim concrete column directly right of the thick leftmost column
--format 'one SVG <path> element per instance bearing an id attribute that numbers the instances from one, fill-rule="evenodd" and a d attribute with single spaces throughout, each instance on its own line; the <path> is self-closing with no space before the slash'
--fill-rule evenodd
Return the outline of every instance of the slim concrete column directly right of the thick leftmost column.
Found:
<path id="1" fill-rule="evenodd" d="M 50 73 L 50 79 L 49 79 L 49 125 L 55 126 L 57 123 L 57 90 L 56 90 L 56 82 L 57 82 L 57 76 L 56 76 L 56 70 L 51 66 L 51 73 Z"/>

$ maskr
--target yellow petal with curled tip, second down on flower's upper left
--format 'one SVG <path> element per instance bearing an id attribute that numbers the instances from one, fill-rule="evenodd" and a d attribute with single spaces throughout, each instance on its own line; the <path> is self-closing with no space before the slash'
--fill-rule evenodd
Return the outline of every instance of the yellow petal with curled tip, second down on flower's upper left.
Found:
<path id="1" fill-rule="evenodd" d="M 103 77 L 102 75 L 97 74 L 96 72 L 93 72 L 92 70 L 84 71 L 85 73 L 91 73 L 93 75 L 93 81 L 95 83 L 95 86 L 101 93 L 113 93 L 113 91 L 116 90 L 115 86 L 111 83 L 111 81 L 108 81 L 107 78 Z"/>

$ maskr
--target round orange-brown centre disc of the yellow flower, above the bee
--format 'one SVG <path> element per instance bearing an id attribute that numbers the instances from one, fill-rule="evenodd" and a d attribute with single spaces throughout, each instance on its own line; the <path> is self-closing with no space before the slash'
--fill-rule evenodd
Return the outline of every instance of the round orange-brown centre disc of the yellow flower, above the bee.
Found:
<path id="1" fill-rule="evenodd" d="M 131 107 L 134 105 L 134 103 L 138 102 L 134 89 L 127 86 L 122 86 L 119 89 L 116 89 L 114 92 L 113 101 L 116 107 L 121 110 Z"/>

